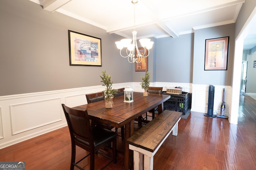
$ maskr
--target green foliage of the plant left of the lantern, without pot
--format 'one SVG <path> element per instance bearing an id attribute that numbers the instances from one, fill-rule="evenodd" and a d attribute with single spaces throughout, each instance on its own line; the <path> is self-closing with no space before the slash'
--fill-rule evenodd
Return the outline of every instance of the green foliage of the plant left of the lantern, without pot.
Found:
<path id="1" fill-rule="evenodd" d="M 102 86 L 106 86 L 106 90 L 102 91 L 104 92 L 105 99 L 111 99 L 114 98 L 114 94 L 116 94 L 117 90 L 112 89 L 113 81 L 111 80 L 110 74 L 106 74 L 106 71 L 101 71 L 102 76 L 100 78 L 102 79 L 100 82 L 102 82 Z"/>

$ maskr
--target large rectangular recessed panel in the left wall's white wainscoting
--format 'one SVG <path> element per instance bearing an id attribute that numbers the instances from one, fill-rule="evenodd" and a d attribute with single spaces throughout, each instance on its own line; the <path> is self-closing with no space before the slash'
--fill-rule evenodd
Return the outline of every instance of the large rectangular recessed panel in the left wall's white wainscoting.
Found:
<path id="1" fill-rule="evenodd" d="M 10 105 L 12 135 L 62 121 L 60 100 L 55 98 Z"/>

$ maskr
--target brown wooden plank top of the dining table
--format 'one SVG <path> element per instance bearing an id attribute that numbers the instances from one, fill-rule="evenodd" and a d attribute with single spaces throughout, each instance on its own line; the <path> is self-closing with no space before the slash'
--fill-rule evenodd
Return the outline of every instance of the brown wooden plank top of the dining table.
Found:
<path id="1" fill-rule="evenodd" d="M 124 102 L 124 96 L 117 96 L 112 100 L 114 106 L 111 109 L 105 108 L 104 100 L 73 108 L 86 109 L 90 119 L 119 128 L 146 113 L 146 111 L 163 104 L 169 98 L 169 95 L 159 94 L 148 94 L 147 97 L 144 97 L 142 92 L 133 92 L 133 102 Z"/>

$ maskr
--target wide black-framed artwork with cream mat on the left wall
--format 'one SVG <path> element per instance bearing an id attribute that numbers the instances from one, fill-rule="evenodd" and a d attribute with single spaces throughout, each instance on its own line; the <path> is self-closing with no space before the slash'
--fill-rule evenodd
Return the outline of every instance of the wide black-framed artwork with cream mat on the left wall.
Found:
<path id="1" fill-rule="evenodd" d="M 68 30 L 70 66 L 102 66 L 101 39 Z"/>

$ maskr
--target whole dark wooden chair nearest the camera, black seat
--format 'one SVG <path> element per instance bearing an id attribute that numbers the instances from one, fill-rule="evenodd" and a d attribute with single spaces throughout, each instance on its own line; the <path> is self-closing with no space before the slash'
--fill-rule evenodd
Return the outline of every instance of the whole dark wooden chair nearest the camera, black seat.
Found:
<path id="1" fill-rule="evenodd" d="M 104 129 L 101 127 L 91 127 L 90 120 L 88 117 L 87 110 L 77 110 L 62 104 L 62 108 L 65 113 L 65 117 L 68 123 L 68 129 L 71 137 L 71 165 L 70 170 L 74 170 L 74 166 L 83 170 L 82 167 L 78 166 L 84 158 L 90 155 L 90 170 L 94 170 L 94 154 L 102 154 L 98 150 L 102 149 L 106 145 L 112 143 L 112 158 L 111 160 L 102 168 L 106 168 L 112 161 L 116 164 L 116 136 L 117 133 Z M 75 162 L 76 160 L 76 146 L 89 151 L 90 153 L 84 156 L 81 160 Z"/>

